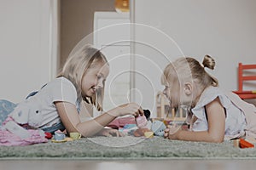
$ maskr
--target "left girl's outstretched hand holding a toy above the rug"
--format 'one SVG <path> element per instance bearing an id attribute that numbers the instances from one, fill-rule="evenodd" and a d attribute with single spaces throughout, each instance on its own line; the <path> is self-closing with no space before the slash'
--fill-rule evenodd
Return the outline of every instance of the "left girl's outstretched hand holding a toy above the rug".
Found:
<path id="1" fill-rule="evenodd" d="M 141 115 L 144 115 L 144 111 L 141 108 L 141 106 L 137 105 L 136 103 L 129 103 L 125 105 L 119 105 L 117 107 L 119 110 L 119 116 L 125 116 L 125 115 L 133 115 L 135 117 Z"/>

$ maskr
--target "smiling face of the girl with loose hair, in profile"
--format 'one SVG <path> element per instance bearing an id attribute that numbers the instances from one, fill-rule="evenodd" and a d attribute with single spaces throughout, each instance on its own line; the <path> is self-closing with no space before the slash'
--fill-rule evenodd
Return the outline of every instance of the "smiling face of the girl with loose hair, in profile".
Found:
<path id="1" fill-rule="evenodd" d="M 100 63 L 90 67 L 82 78 L 82 95 L 92 97 L 96 90 L 103 88 L 109 74 L 109 66 Z"/>

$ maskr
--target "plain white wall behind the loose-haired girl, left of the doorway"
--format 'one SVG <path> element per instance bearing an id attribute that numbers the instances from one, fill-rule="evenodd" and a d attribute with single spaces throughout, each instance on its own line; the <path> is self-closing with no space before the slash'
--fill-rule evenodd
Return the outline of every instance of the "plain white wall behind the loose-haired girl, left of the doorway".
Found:
<path id="1" fill-rule="evenodd" d="M 56 2 L 0 0 L 1 99 L 20 102 L 55 76 Z"/>

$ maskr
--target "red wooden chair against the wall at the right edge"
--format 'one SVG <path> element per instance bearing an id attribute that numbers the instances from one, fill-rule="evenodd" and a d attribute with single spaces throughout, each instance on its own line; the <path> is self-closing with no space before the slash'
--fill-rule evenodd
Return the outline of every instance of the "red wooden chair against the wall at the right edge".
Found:
<path id="1" fill-rule="evenodd" d="M 253 90 L 245 90 L 244 85 L 246 83 L 250 83 Z M 241 99 L 256 99 L 256 65 L 238 64 L 238 90 L 233 92 L 239 95 Z"/>

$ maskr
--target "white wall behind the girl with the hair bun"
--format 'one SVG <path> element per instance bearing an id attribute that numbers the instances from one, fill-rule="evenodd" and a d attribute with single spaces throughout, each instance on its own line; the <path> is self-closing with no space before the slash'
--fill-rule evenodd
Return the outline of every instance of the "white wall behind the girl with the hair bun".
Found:
<path id="1" fill-rule="evenodd" d="M 146 25 L 134 29 L 136 70 L 143 71 L 144 77 L 136 75 L 135 82 L 143 94 L 144 107 L 154 107 L 153 94 L 163 89 L 160 70 L 168 59 L 185 54 L 201 60 L 205 54 L 212 55 L 217 66 L 210 73 L 228 90 L 237 88 L 238 62 L 256 63 L 254 0 L 139 0 L 133 3 L 132 20 Z M 147 63 L 138 55 L 152 61 Z"/>

